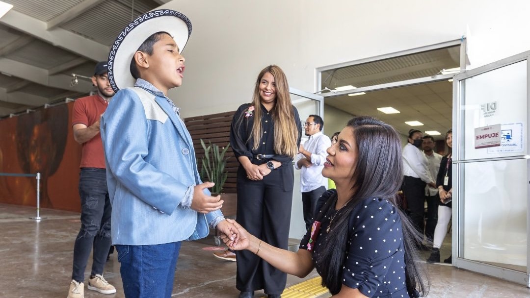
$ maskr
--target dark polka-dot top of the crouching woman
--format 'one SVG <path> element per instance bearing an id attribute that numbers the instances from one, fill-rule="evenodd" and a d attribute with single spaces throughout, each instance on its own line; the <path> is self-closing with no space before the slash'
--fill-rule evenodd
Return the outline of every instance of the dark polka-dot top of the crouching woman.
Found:
<path id="1" fill-rule="evenodd" d="M 317 203 L 317 206 L 322 206 L 321 200 L 333 200 L 331 207 L 327 212 L 324 211 L 326 214 L 322 216 L 322 225 L 314 243 L 313 254 L 319 254 L 322 243 L 328 238 L 326 229 L 330 219 L 340 212 L 334 209 L 336 194 L 334 189 L 327 191 Z M 310 234 L 311 231 L 307 231 L 300 243 L 300 249 L 307 249 Z M 390 202 L 381 198 L 366 198 L 354 207 L 349 216 L 348 245 L 345 253 L 342 284 L 358 288 L 368 297 L 410 297 L 405 282 L 401 218 L 396 207 Z M 318 263 L 314 265 L 319 274 L 326 266 Z"/>

